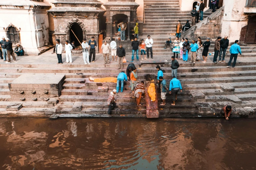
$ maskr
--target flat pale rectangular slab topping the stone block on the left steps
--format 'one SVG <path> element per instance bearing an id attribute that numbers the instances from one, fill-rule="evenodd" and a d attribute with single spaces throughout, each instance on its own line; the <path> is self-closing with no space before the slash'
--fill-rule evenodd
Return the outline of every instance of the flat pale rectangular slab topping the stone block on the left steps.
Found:
<path id="1" fill-rule="evenodd" d="M 64 83 L 65 74 L 23 74 L 9 83 L 11 88 L 55 88 Z"/>

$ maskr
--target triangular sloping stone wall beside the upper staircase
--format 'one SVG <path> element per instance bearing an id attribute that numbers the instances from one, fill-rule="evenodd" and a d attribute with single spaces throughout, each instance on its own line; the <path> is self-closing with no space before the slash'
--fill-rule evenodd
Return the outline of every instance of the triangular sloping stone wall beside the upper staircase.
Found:
<path id="1" fill-rule="evenodd" d="M 198 36 L 200 36 L 202 40 L 207 37 L 216 39 L 218 36 L 221 36 L 223 13 L 224 8 L 221 7 L 203 21 L 200 21 L 186 32 L 181 33 L 181 37 L 188 38 L 189 40 L 197 39 Z"/>

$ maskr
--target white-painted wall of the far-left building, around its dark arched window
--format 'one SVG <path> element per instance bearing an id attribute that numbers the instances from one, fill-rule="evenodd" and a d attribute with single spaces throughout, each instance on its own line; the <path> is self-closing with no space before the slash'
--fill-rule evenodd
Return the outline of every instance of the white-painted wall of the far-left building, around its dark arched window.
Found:
<path id="1" fill-rule="evenodd" d="M 8 15 L 7 15 L 8 14 Z M 6 37 L 6 28 L 10 23 L 20 29 L 20 41 L 25 52 L 39 52 L 38 48 L 43 47 L 45 43 L 49 43 L 49 22 L 46 10 L 37 9 L 33 12 L 30 7 L 3 9 L 0 10 L 0 37 Z M 44 23 L 44 35 L 41 24 Z"/>

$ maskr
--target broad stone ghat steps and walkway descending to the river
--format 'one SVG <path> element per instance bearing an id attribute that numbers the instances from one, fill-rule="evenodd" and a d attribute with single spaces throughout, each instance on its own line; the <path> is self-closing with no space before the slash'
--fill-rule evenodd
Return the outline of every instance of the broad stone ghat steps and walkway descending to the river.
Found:
<path id="1" fill-rule="evenodd" d="M 145 99 L 142 99 L 142 106 L 136 105 L 129 82 L 125 82 L 124 92 L 115 97 L 118 108 L 107 115 L 107 98 L 116 84 L 88 80 L 89 77 L 117 77 L 121 72 L 117 70 L 117 62 L 104 64 L 102 56 L 97 55 L 96 62 L 90 65 L 84 65 L 81 56 L 74 56 L 72 64 L 55 64 L 56 58 L 56 55 L 46 52 L 44 56 L 19 57 L 15 63 L 0 64 L 1 117 L 146 117 Z M 163 57 L 156 55 L 149 61 L 160 60 Z M 166 105 L 161 106 L 158 93 L 159 117 L 223 118 L 220 112 L 225 105 L 233 107 L 231 117 L 256 117 L 255 57 L 238 57 L 235 68 L 227 68 L 227 63 L 212 63 L 211 56 L 206 64 L 178 61 L 178 79 L 183 91 L 179 92 L 175 106 L 171 105 L 170 94 L 167 94 Z M 171 69 L 168 62 L 170 57 L 165 64 L 135 62 L 138 81 L 148 77 L 156 79 L 155 67 L 160 65 L 169 86 Z M 128 64 L 125 64 L 124 71 Z M 22 86 L 17 86 L 19 84 Z"/>

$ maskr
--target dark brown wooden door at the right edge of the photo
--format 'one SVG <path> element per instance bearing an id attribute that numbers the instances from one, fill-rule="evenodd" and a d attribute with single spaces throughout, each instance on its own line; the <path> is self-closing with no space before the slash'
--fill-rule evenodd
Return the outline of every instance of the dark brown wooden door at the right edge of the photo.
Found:
<path id="1" fill-rule="evenodd" d="M 245 43 L 256 43 L 256 16 L 251 17 L 248 21 L 247 31 L 245 36 Z"/>

